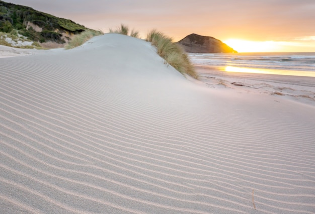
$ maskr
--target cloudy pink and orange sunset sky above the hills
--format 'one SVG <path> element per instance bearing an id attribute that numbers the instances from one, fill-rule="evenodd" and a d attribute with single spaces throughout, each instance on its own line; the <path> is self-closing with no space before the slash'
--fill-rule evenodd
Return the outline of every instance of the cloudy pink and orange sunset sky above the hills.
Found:
<path id="1" fill-rule="evenodd" d="M 88 28 L 196 33 L 239 52 L 315 52 L 315 0 L 5 0 Z"/>

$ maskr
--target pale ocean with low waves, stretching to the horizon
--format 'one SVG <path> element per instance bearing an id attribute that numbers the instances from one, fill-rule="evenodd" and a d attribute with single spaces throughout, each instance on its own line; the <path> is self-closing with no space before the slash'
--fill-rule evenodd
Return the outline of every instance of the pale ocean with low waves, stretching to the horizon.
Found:
<path id="1" fill-rule="evenodd" d="M 314 53 L 189 53 L 197 66 L 229 72 L 315 77 Z"/>

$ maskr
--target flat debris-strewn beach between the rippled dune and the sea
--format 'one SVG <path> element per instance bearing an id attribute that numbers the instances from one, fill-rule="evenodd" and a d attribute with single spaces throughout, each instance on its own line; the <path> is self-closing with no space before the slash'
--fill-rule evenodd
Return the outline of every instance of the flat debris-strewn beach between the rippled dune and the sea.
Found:
<path id="1" fill-rule="evenodd" d="M 315 106 L 315 77 L 227 72 L 216 66 L 194 65 L 194 67 L 199 80 L 210 88 L 280 95 Z"/>

